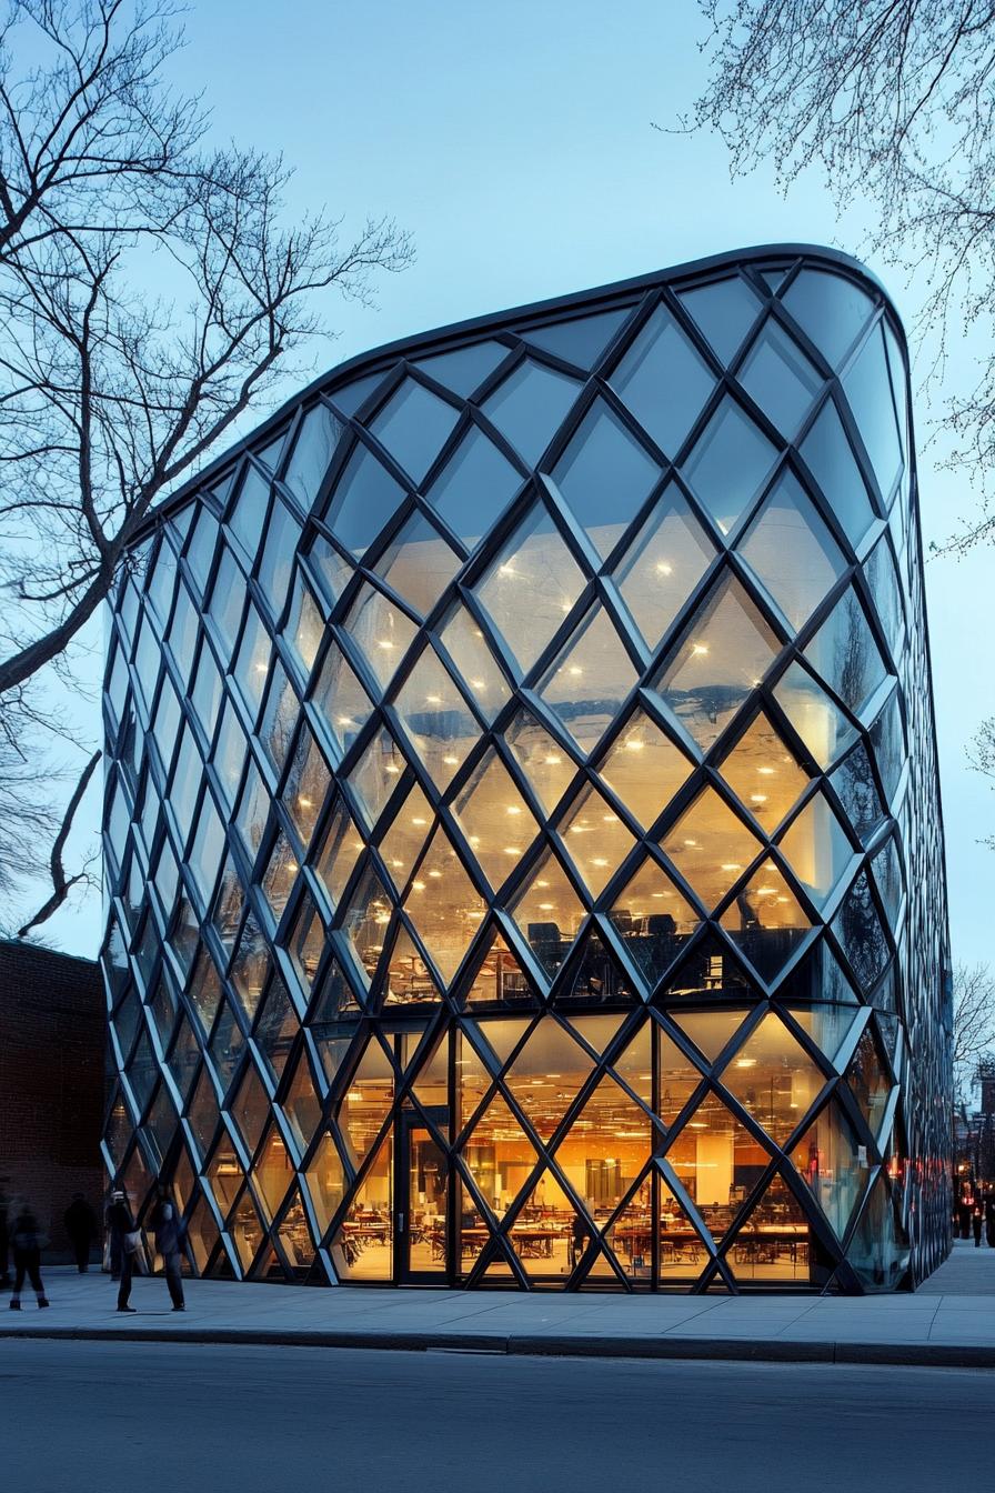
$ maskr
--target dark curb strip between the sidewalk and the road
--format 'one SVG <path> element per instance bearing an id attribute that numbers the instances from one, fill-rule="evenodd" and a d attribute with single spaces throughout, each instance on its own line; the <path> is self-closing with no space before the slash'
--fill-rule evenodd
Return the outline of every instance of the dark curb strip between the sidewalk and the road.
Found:
<path id="1" fill-rule="evenodd" d="M 713 1359 L 752 1363 L 882 1363 L 992 1369 L 995 1344 L 788 1342 L 777 1338 L 580 1336 L 452 1332 L 266 1332 L 242 1327 L 0 1327 L 0 1339 L 191 1342 L 283 1348 L 364 1348 L 394 1353 L 486 1353 L 553 1359 Z"/>

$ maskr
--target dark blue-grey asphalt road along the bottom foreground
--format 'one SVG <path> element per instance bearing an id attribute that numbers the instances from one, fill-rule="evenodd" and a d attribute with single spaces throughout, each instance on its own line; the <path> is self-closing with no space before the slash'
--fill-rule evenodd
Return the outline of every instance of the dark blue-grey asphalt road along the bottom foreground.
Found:
<path id="1" fill-rule="evenodd" d="M 947 1493 L 995 1374 L 0 1341 L 18 1493 Z"/>

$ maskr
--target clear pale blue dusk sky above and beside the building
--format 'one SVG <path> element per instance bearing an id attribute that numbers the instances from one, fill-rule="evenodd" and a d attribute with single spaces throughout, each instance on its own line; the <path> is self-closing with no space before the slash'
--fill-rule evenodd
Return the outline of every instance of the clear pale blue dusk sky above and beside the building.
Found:
<path id="1" fill-rule="evenodd" d="M 859 254 L 874 222 L 873 203 L 859 199 L 840 218 L 816 173 L 785 199 L 767 170 L 731 182 L 722 140 L 653 128 L 676 127 L 706 78 L 691 0 L 200 0 L 186 34 L 178 85 L 204 90 L 219 142 L 282 152 L 297 167 L 289 213 L 327 205 L 345 216 L 343 237 L 367 213 L 391 213 L 415 237 L 415 266 L 377 282 L 374 309 L 328 305 L 339 337 L 315 349 L 313 372 L 409 333 L 738 246 L 789 240 Z M 870 264 L 911 325 L 922 287 Z M 967 352 L 964 364 L 950 370 L 961 387 L 974 376 Z M 928 543 L 970 511 L 971 496 L 962 478 L 937 470 L 920 397 L 916 418 Z M 935 560 L 926 585 L 953 954 L 977 961 L 992 947 L 995 853 L 979 839 L 995 832 L 995 799 L 965 746 L 995 712 L 995 551 Z M 94 633 L 82 664 L 91 684 L 98 642 Z M 97 706 L 75 712 L 81 735 L 95 738 Z M 94 791 L 76 854 L 95 841 L 98 808 Z M 95 954 L 101 918 L 92 893 L 46 936 Z"/>

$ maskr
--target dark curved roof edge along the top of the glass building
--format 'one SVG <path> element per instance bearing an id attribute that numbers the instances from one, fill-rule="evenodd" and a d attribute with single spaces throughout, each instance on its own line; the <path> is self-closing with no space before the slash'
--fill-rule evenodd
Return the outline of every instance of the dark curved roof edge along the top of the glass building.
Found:
<path id="1" fill-rule="evenodd" d="M 203 466 L 195 476 L 188 478 L 181 487 L 176 488 L 175 493 L 164 497 L 142 521 L 131 543 L 139 543 L 145 539 L 161 520 L 167 518 L 178 508 L 182 508 L 198 488 L 209 487 L 222 473 L 225 466 L 242 457 L 258 442 L 266 442 L 267 436 L 274 431 L 282 421 L 288 420 L 294 409 L 303 405 L 313 394 L 318 394 L 319 391 L 331 391 L 345 381 L 352 382 L 352 379 L 361 376 L 367 367 L 373 370 L 382 358 L 395 360 L 401 354 L 422 354 L 430 348 L 445 351 L 446 343 L 449 342 L 458 343 L 491 328 L 497 331 L 509 322 L 531 321 L 536 317 L 542 318 L 580 309 L 589 302 L 631 296 L 634 291 L 650 290 L 653 285 L 671 284 L 673 281 L 697 279 L 703 275 L 712 273 L 713 270 L 726 269 L 734 264 L 743 264 L 755 260 L 797 258 L 822 260 L 822 263 L 832 266 L 834 269 L 846 270 L 856 279 L 862 279 L 873 291 L 882 296 L 901 336 L 905 364 L 908 364 L 905 328 L 895 303 L 877 275 L 874 275 L 873 270 L 868 270 L 868 267 L 852 254 L 844 254 L 843 249 L 826 248 L 820 243 L 758 243 L 744 249 L 725 249 L 722 254 L 709 254 L 704 258 L 686 260 L 683 264 L 649 270 L 644 275 L 633 275 L 622 281 L 610 281 L 607 285 L 594 285 L 589 290 L 570 291 L 565 296 L 553 296 L 547 300 L 536 300 L 524 306 L 509 306 L 506 311 L 489 311 L 479 317 L 468 317 L 464 321 L 453 321 L 443 327 L 433 327 L 428 331 L 416 331 L 406 337 L 395 337 L 392 342 L 383 342 L 376 348 L 367 349 L 365 352 L 357 352 L 354 357 L 346 358 L 345 363 L 333 364 L 333 367 L 327 372 L 319 373 L 295 394 L 291 394 L 289 399 L 285 399 L 271 415 L 267 415 L 258 426 L 254 426 L 252 430 L 248 431 L 248 434 L 245 434 L 240 440 L 225 446 L 225 449 Z"/>

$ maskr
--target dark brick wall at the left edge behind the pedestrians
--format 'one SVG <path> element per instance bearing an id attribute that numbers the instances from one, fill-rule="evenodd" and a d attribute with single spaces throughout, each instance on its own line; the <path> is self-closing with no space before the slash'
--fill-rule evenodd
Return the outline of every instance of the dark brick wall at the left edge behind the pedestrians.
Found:
<path id="1" fill-rule="evenodd" d="M 104 997 L 92 960 L 0 941 L 0 1187 L 27 1199 L 66 1259 L 63 1214 L 100 1217 Z"/>

